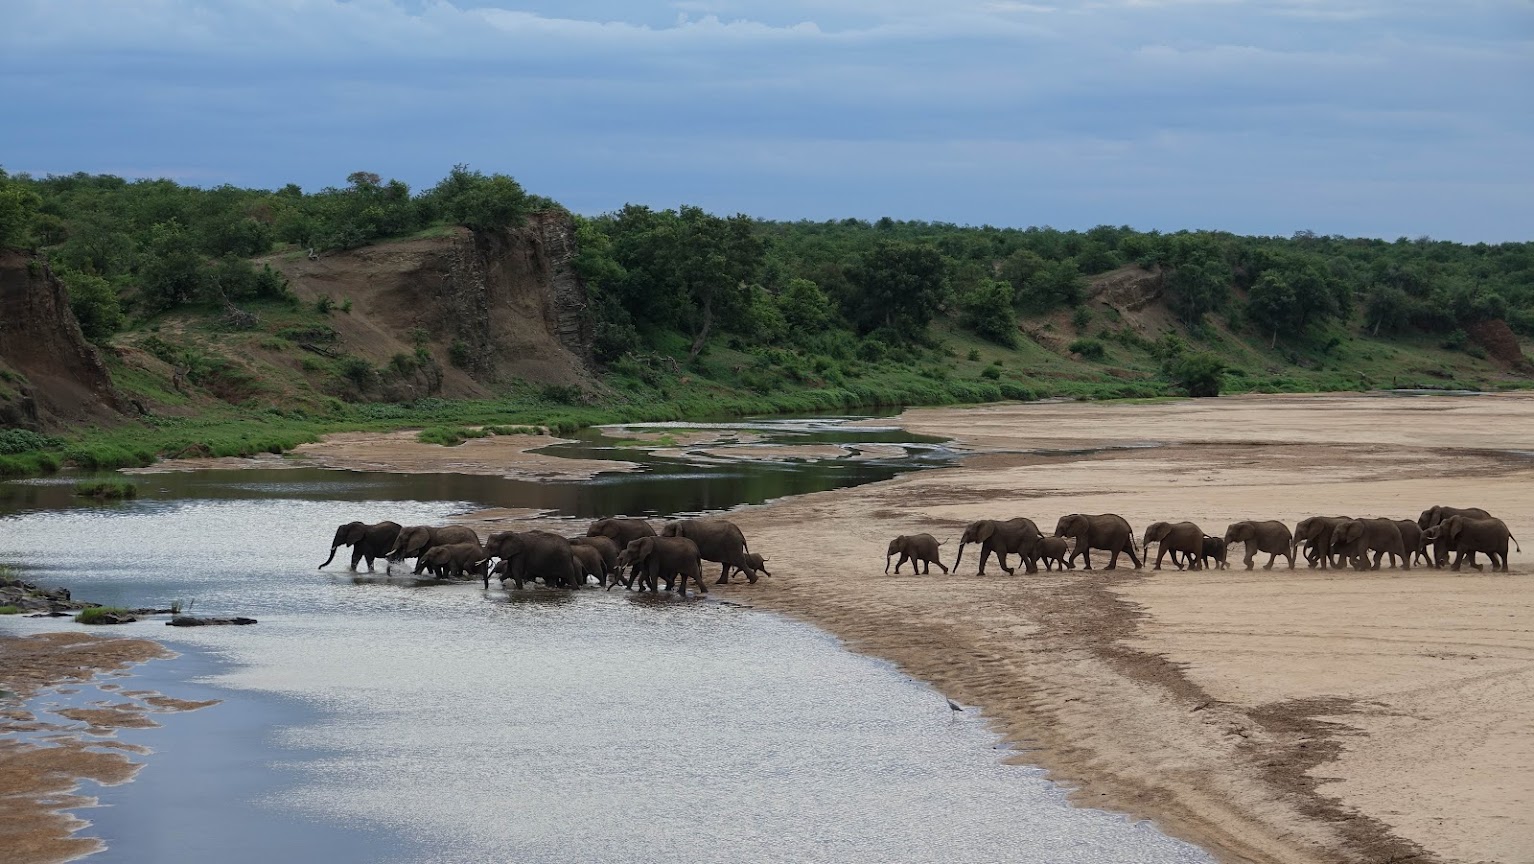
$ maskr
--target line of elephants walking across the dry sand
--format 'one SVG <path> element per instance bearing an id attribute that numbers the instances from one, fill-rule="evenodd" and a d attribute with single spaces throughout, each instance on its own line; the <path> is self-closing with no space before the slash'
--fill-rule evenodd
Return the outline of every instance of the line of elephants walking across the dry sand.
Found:
<path id="1" fill-rule="evenodd" d="M 985 565 L 991 556 L 996 556 L 1003 571 L 1014 572 L 1014 568 L 1006 566 L 1006 557 L 1012 554 L 1022 559 L 1026 572 L 1039 572 L 1040 563 L 1045 569 L 1075 569 L 1077 559 L 1086 569 L 1092 569 L 1094 549 L 1108 552 L 1108 569 L 1118 566 L 1118 556 L 1129 556 L 1138 569 L 1144 563 L 1141 556 L 1149 560 L 1150 543 L 1157 543 L 1155 569 L 1161 569 L 1167 556 L 1178 569 L 1226 568 L 1227 549 L 1241 543 L 1246 549 L 1247 569 L 1253 568 L 1258 554 L 1267 554 L 1264 569 L 1272 569 L 1279 557 L 1287 559 L 1293 569 L 1296 556 L 1301 554 L 1309 566 L 1322 569 L 1342 566 L 1379 569 L 1387 556 L 1391 566 L 1411 569 L 1417 560 L 1442 568 L 1450 565 L 1448 556 L 1454 552 L 1451 565 L 1454 571 L 1467 562 L 1480 569 L 1476 556 L 1485 554 L 1491 559 L 1494 571 L 1506 572 L 1509 542 L 1517 551 L 1523 551 L 1517 548 L 1517 540 L 1506 523 L 1485 509 L 1439 505 L 1424 509 L 1416 520 L 1312 516 L 1301 520 L 1293 531 L 1276 520 L 1233 522 L 1223 537 L 1204 534 L 1203 528 L 1192 522 L 1155 522 L 1146 528 L 1137 554 L 1135 534 L 1124 517 L 1114 513 L 1098 516 L 1075 513 L 1062 516 L 1052 536 L 1045 536 L 1031 519 L 1025 517 L 971 522 L 959 537 L 954 569 L 959 568 L 963 549 L 969 545 L 980 546 L 979 574 L 985 575 Z M 937 565 L 946 574 L 948 566 L 939 560 L 940 545 L 931 534 L 902 534 L 890 540 L 884 569 L 890 572 L 890 559 L 900 556 L 894 572 L 900 572 L 900 566 L 911 562 L 913 572 L 920 566 L 925 574 L 931 571 L 931 565 Z"/>

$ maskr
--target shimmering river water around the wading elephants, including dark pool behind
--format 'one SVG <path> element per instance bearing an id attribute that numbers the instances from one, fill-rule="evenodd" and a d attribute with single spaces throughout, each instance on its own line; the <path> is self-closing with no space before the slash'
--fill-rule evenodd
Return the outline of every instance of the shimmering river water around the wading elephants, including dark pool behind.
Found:
<path id="1" fill-rule="evenodd" d="M 982 718 L 951 717 L 940 694 L 805 625 L 712 602 L 314 569 L 351 519 L 486 505 L 669 516 L 946 457 L 897 430 L 838 427 L 750 431 L 908 444 L 907 456 L 675 457 L 586 483 L 156 474 L 140 477 L 143 499 L 106 506 L 61 483 L 0 483 L 0 562 L 97 602 L 261 618 L 112 629 L 181 652 L 124 683 L 224 701 L 121 732 L 155 754 L 133 783 L 87 789 L 103 807 L 81 812 L 84 833 L 109 844 L 91 861 L 1209 861 L 1146 823 L 1071 807 L 1037 769 L 1002 764 Z M 632 457 L 595 437 L 561 447 Z M 0 632 L 66 626 L 0 618 Z"/>

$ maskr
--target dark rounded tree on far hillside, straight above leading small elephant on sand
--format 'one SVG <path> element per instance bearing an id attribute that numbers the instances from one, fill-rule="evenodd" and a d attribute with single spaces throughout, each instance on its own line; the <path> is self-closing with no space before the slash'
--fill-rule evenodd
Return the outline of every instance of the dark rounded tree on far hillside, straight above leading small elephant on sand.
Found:
<path id="1" fill-rule="evenodd" d="M 931 324 L 948 293 L 943 256 L 927 244 L 881 241 L 847 273 L 847 310 L 861 333 L 888 328 L 914 341 Z"/>

